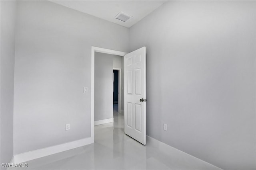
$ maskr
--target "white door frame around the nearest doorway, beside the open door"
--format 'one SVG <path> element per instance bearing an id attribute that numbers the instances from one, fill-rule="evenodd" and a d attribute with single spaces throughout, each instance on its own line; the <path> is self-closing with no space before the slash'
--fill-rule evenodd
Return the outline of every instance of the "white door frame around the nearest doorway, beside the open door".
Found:
<path id="1" fill-rule="evenodd" d="M 124 55 L 128 54 L 122 51 L 104 49 L 100 47 L 92 46 L 92 57 L 91 57 L 91 137 L 94 142 L 94 53 L 106 53 L 112 55 L 119 55 L 124 57 Z"/>

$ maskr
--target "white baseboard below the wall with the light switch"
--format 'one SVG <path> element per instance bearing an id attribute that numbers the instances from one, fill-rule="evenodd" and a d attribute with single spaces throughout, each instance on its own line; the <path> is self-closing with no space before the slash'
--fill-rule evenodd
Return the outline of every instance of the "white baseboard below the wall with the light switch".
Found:
<path id="1" fill-rule="evenodd" d="M 18 164 L 18 163 L 26 162 L 26 161 L 33 160 L 33 159 L 42 158 L 44 156 L 48 156 L 51 154 L 56 154 L 58 152 L 63 152 L 66 150 L 77 148 L 77 147 L 82 147 L 84 145 L 89 145 L 91 143 L 94 143 L 94 139 L 92 137 L 88 137 L 88 138 L 80 139 L 77 141 L 72 141 L 72 142 L 68 142 L 68 143 L 64 143 L 64 144 L 60 144 L 60 145 L 55 145 L 52 147 L 32 150 L 29 152 L 24 152 L 21 154 L 14 155 L 13 162 L 15 164 Z"/>

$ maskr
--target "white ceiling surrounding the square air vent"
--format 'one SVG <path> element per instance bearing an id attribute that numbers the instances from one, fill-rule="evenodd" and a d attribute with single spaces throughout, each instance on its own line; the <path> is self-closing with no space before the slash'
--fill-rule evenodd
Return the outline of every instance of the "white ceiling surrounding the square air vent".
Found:
<path id="1" fill-rule="evenodd" d="M 124 27 L 131 27 L 142 18 L 161 6 L 166 0 L 50 0 L 56 4 L 117 23 Z M 133 18 L 123 22 L 115 16 L 124 12 Z"/>

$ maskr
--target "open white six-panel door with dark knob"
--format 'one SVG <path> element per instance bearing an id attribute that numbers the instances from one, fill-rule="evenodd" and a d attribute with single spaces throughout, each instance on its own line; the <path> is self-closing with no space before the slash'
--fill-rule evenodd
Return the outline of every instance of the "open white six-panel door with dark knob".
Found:
<path id="1" fill-rule="evenodd" d="M 124 56 L 124 133 L 146 145 L 146 47 Z"/>

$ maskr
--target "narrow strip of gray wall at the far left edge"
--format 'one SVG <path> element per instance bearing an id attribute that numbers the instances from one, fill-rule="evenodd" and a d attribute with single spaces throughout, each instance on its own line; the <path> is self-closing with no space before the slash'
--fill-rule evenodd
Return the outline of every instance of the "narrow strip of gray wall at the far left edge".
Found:
<path id="1" fill-rule="evenodd" d="M 16 1 L 1 1 L 0 6 L 0 163 L 9 163 L 13 156 Z"/>

